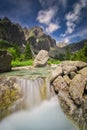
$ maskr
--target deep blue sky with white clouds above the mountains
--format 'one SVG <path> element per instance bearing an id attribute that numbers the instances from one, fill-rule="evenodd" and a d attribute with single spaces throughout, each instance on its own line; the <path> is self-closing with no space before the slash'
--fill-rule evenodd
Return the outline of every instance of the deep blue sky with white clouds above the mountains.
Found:
<path id="1" fill-rule="evenodd" d="M 0 17 L 40 26 L 57 43 L 87 39 L 87 0 L 0 0 Z"/>

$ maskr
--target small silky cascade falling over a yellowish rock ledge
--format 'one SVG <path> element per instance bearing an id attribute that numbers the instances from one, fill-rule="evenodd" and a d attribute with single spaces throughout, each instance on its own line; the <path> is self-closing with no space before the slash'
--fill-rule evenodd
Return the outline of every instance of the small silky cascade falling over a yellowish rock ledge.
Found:
<path id="1" fill-rule="evenodd" d="M 17 78 L 17 84 L 21 88 L 22 98 L 17 100 L 11 107 L 12 112 L 31 109 L 39 105 L 43 100 L 50 99 L 53 95 L 47 78 Z"/>

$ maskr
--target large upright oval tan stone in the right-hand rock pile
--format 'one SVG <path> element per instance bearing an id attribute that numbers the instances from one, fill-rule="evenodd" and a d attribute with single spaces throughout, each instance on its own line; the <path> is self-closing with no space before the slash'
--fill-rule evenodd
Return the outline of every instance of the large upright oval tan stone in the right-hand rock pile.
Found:
<path id="1" fill-rule="evenodd" d="M 71 81 L 69 93 L 74 102 L 78 105 L 82 103 L 86 81 L 83 80 L 81 74 L 77 74 Z"/>

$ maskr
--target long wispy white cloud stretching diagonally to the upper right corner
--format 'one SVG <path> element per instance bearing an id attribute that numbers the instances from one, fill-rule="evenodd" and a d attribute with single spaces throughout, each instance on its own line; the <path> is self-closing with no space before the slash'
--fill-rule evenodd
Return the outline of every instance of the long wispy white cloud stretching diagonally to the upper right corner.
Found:
<path id="1" fill-rule="evenodd" d="M 67 30 L 65 31 L 65 34 L 62 34 L 63 37 L 65 37 L 67 34 L 73 33 L 75 27 L 77 26 L 77 22 L 80 19 L 81 10 L 82 8 L 86 7 L 86 5 L 87 5 L 86 0 L 80 0 L 78 3 L 74 4 L 73 10 L 65 15 L 65 19 L 67 21 L 66 22 Z"/>

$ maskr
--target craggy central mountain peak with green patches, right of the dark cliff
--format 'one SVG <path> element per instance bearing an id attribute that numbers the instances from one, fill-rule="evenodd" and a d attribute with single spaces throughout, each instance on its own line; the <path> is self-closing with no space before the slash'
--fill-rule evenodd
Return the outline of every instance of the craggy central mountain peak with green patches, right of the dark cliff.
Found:
<path id="1" fill-rule="evenodd" d="M 38 53 L 41 49 L 49 51 L 56 47 L 56 41 L 46 35 L 41 27 L 33 27 L 30 30 L 25 28 L 24 34 L 34 53 Z"/>

